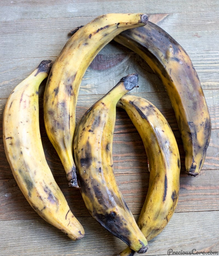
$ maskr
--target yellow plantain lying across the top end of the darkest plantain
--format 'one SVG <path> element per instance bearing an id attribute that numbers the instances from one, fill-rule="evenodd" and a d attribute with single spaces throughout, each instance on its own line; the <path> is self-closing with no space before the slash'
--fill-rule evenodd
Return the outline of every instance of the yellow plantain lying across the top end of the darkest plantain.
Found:
<path id="1" fill-rule="evenodd" d="M 64 166 L 69 185 L 78 187 L 73 160 L 75 110 L 81 80 L 91 61 L 125 29 L 144 26 L 142 13 L 109 13 L 76 29 L 55 60 L 44 93 L 47 135 Z"/>

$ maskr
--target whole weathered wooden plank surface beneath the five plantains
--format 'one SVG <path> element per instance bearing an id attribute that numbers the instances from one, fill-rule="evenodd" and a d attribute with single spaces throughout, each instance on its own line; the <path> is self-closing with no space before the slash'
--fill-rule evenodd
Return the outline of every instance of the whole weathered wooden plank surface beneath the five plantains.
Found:
<path id="1" fill-rule="evenodd" d="M 80 191 L 69 188 L 64 169 L 45 132 L 43 93 L 39 91 L 40 127 L 48 164 L 71 210 L 85 228 L 85 237 L 71 241 L 42 220 L 18 188 L 4 153 L 2 115 L 11 90 L 43 59 L 56 59 L 68 32 L 98 15 L 144 12 L 189 54 L 208 104 L 212 135 L 197 177 L 184 171 L 184 151 L 169 98 L 159 77 L 135 53 L 111 42 L 87 69 L 79 91 L 76 122 L 90 106 L 128 73 L 139 73 L 141 95 L 168 120 L 180 150 L 180 196 L 167 227 L 149 241 L 142 255 L 219 254 L 219 1 L 0 1 L 0 255 L 112 256 L 126 245 L 90 216 Z M 149 171 L 143 143 L 125 111 L 117 110 L 113 142 L 114 171 L 119 188 L 136 220 L 148 189 Z"/>

